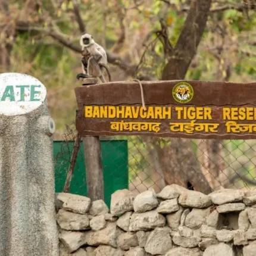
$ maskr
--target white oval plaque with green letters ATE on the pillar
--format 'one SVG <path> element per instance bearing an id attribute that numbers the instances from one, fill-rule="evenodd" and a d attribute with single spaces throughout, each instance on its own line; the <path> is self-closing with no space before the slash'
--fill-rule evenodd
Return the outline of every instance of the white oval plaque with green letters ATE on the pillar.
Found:
<path id="1" fill-rule="evenodd" d="M 46 88 L 33 76 L 19 73 L 0 74 L 0 115 L 22 115 L 40 105 Z"/>

